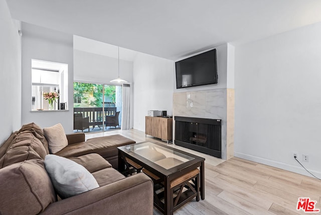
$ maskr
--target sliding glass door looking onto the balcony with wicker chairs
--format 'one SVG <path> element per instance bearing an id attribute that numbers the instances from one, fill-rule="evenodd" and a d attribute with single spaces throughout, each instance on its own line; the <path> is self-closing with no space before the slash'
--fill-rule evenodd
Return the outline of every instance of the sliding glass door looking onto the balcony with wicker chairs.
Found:
<path id="1" fill-rule="evenodd" d="M 121 86 L 74 82 L 74 132 L 119 129 L 121 109 Z"/>

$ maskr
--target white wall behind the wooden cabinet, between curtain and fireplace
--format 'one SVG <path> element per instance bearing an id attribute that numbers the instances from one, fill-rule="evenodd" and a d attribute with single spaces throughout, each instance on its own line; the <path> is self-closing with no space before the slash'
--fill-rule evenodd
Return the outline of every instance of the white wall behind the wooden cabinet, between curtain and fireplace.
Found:
<path id="1" fill-rule="evenodd" d="M 145 131 L 148 110 L 173 114 L 174 61 L 138 53 L 133 64 L 134 125 Z"/>

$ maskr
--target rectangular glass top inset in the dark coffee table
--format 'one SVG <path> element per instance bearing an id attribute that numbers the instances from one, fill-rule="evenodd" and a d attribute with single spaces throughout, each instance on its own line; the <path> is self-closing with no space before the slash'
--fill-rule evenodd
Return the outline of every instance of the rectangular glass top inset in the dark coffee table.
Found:
<path id="1" fill-rule="evenodd" d="M 124 149 L 162 166 L 165 169 L 171 169 L 195 159 L 189 155 L 150 142 L 124 146 Z"/>

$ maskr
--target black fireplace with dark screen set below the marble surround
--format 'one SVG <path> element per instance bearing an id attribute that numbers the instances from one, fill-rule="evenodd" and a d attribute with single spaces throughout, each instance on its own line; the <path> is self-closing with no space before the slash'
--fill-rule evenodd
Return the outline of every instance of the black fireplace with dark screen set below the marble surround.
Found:
<path id="1" fill-rule="evenodd" d="M 221 158 L 221 122 L 217 119 L 175 117 L 175 144 Z"/>

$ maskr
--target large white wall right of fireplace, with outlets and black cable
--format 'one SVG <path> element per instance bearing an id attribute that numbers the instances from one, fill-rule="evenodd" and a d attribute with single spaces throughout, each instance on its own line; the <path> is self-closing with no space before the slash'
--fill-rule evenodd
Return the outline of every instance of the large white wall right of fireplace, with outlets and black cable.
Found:
<path id="1" fill-rule="evenodd" d="M 321 177 L 321 23 L 235 48 L 235 156 Z"/>

